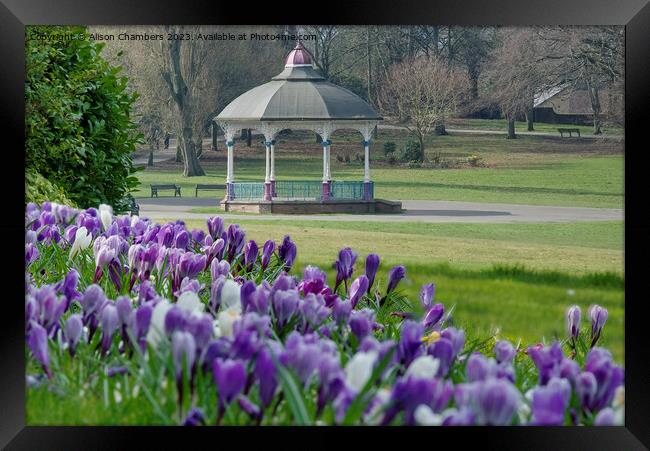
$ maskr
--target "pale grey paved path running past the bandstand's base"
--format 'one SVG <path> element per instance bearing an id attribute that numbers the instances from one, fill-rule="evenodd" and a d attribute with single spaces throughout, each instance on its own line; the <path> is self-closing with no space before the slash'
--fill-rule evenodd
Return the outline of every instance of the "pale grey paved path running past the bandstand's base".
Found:
<path id="1" fill-rule="evenodd" d="M 469 223 L 522 223 L 622 221 L 623 210 L 618 208 L 550 207 L 540 205 L 495 204 L 434 200 L 403 200 L 402 214 L 378 215 L 235 215 L 219 210 L 216 198 L 161 197 L 139 198 L 140 216 L 151 219 L 206 219 L 218 214 L 224 219 L 300 221 L 421 221 Z M 214 207 L 214 213 L 191 213 L 199 207 Z"/>

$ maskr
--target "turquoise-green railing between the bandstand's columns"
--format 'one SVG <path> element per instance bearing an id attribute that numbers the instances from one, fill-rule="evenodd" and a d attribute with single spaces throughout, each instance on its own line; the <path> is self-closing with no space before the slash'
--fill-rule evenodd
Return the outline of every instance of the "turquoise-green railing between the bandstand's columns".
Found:
<path id="1" fill-rule="evenodd" d="M 364 182 L 333 180 L 330 185 L 331 200 L 364 199 Z M 368 185 L 370 199 L 374 198 L 374 184 Z M 263 182 L 235 182 L 232 186 L 233 200 L 261 200 L 264 198 Z M 275 195 L 278 200 L 321 200 L 323 182 L 319 180 L 277 180 Z"/>

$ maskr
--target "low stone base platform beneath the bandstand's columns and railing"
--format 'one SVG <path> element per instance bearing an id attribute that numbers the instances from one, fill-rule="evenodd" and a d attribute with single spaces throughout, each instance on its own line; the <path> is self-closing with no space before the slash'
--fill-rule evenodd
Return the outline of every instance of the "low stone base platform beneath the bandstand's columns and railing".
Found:
<path id="1" fill-rule="evenodd" d="M 385 199 L 373 200 L 222 200 L 224 211 L 258 214 L 386 214 L 401 213 L 402 203 Z"/>

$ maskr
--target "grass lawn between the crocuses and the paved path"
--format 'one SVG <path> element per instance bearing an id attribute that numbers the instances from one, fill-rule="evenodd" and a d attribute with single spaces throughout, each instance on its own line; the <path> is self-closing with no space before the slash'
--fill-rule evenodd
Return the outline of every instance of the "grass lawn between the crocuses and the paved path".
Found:
<path id="1" fill-rule="evenodd" d="M 163 221 L 159 221 L 163 222 Z M 623 224 L 424 224 L 237 219 L 260 245 L 289 234 L 298 246 L 294 272 L 307 264 L 331 269 L 340 248 L 359 253 L 357 273 L 370 252 L 382 258 L 380 284 L 394 265 L 407 268 L 402 289 L 417 300 L 420 286 L 437 284 L 437 298 L 456 305 L 456 320 L 478 335 L 500 330 L 515 342 L 564 334 L 564 312 L 578 304 L 609 309 L 606 343 L 624 356 Z M 187 220 L 189 228 L 203 228 Z M 569 295 L 569 290 L 575 294 Z"/>

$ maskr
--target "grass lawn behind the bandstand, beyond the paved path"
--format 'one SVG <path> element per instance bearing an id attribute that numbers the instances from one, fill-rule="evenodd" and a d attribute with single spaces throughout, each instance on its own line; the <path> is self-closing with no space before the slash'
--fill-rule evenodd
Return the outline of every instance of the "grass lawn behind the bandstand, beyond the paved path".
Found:
<path id="1" fill-rule="evenodd" d="M 426 141 L 429 161 L 460 161 L 470 155 L 482 158 L 484 167 L 455 169 L 406 168 L 384 161 L 383 144 L 393 141 L 400 148 L 407 135 L 399 130 L 382 130 L 371 147 L 371 177 L 375 196 L 384 199 L 457 200 L 533 205 L 582 207 L 623 206 L 624 159 L 622 143 L 611 140 L 561 140 L 521 136 L 506 140 L 495 135 L 449 135 Z M 354 162 L 362 152 L 359 136 L 340 132 L 332 138 L 331 172 L 335 180 L 361 180 L 363 166 Z M 337 160 L 350 155 L 352 163 Z M 322 177 L 320 146 L 312 135 L 294 134 L 279 138 L 276 148 L 278 180 L 319 180 Z M 262 181 L 264 150 L 261 143 L 251 148 L 235 146 L 235 177 L 238 181 Z M 176 183 L 184 196 L 194 196 L 197 183 L 225 183 L 225 152 L 206 151 L 203 177 L 183 177 L 181 163 L 157 163 L 138 173 L 141 186 L 135 195 L 148 197 L 150 184 Z M 214 191 L 201 197 L 221 196 Z"/>

